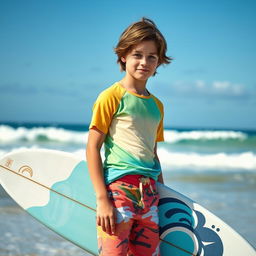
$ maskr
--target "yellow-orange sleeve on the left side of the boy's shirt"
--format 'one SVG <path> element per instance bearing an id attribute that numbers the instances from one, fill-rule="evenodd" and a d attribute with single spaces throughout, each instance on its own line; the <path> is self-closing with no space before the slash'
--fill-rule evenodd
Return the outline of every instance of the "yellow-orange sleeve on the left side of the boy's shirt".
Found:
<path id="1" fill-rule="evenodd" d="M 116 92 L 113 86 L 103 91 L 94 103 L 89 129 L 96 127 L 107 134 L 120 99 L 120 94 Z"/>

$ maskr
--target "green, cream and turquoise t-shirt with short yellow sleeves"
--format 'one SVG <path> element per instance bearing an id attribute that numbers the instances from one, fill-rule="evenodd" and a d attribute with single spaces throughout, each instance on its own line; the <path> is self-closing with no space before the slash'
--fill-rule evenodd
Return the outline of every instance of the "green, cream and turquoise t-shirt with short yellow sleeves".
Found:
<path id="1" fill-rule="evenodd" d="M 106 184 L 132 174 L 157 180 L 161 167 L 154 147 L 164 140 L 160 100 L 152 94 L 141 96 L 127 91 L 117 82 L 98 96 L 93 106 L 92 127 L 106 134 Z"/>

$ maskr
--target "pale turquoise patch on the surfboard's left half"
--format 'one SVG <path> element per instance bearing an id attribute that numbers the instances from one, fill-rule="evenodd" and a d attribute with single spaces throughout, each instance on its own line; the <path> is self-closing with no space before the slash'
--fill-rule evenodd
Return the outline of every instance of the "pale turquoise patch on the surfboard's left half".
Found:
<path id="1" fill-rule="evenodd" d="M 94 190 L 87 170 L 86 162 L 81 161 L 66 180 L 55 183 L 51 189 L 95 209 Z M 31 207 L 27 211 L 63 237 L 72 237 L 77 245 L 96 254 L 95 211 L 54 191 L 50 191 L 49 202 L 45 206 Z M 82 223 L 86 224 L 83 226 Z"/>

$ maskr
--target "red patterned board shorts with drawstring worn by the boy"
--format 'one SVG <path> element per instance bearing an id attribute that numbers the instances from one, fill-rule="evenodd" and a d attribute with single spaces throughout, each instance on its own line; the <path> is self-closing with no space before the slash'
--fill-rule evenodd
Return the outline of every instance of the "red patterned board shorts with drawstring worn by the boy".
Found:
<path id="1" fill-rule="evenodd" d="M 109 235 L 97 227 L 100 256 L 160 255 L 156 184 L 135 176 L 139 177 L 138 184 L 119 179 L 107 186 L 116 208 L 116 233 Z"/>

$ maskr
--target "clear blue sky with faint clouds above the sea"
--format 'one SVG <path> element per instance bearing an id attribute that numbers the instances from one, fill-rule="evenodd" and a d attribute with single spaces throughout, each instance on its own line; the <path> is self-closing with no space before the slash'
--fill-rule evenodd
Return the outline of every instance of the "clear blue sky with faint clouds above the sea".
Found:
<path id="1" fill-rule="evenodd" d="M 148 89 L 165 126 L 256 129 L 256 1 L 0 0 L 0 121 L 87 124 L 122 78 L 113 48 L 142 16 L 173 63 Z"/>

